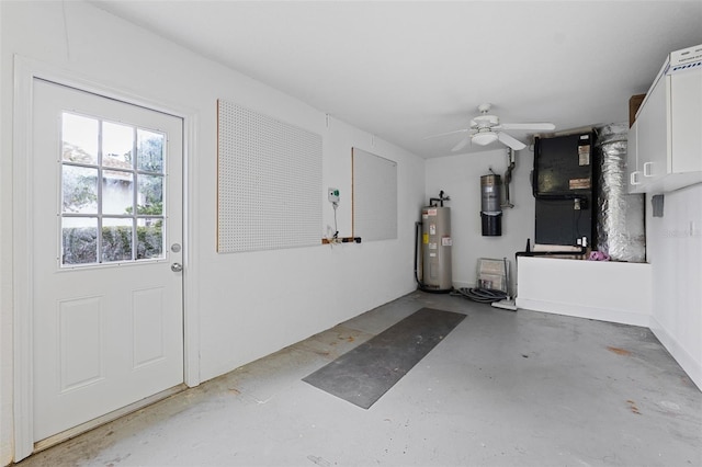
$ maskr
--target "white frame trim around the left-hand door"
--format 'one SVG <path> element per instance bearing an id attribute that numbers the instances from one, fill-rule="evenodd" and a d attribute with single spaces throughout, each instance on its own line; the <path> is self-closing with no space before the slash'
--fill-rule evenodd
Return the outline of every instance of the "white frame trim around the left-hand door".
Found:
<path id="1" fill-rule="evenodd" d="M 194 217 L 197 209 L 195 196 L 190 193 L 196 185 L 197 164 L 190 163 L 195 153 L 195 128 L 197 112 L 192 109 L 173 106 L 118 89 L 99 84 L 72 71 L 55 66 L 14 56 L 14 103 L 12 128 L 12 281 L 13 281 L 13 432 L 14 462 L 19 462 L 35 451 L 34 446 L 34 351 L 33 351 L 33 252 L 31 232 L 34 228 L 30 207 L 32 206 L 32 137 L 33 137 L 33 84 L 39 78 L 58 84 L 80 89 L 109 99 L 115 99 L 157 112 L 177 116 L 183 121 L 183 381 L 197 386 L 200 380 L 200 312 L 197 304 L 197 253 Z"/>

